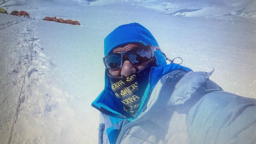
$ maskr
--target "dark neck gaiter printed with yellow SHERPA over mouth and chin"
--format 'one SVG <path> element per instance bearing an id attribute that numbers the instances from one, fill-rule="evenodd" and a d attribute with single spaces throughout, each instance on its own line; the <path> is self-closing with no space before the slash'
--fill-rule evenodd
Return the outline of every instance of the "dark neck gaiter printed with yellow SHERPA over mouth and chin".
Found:
<path id="1" fill-rule="evenodd" d="M 154 60 L 129 77 L 115 77 L 108 74 L 113 93 L 124 104 L 124 111 L 126 111 L 127 117 L 136 115 L 142 96 L 149 83 L 150 69 L 153 66 L 156 66 Z"/>

